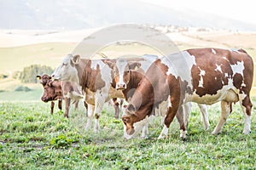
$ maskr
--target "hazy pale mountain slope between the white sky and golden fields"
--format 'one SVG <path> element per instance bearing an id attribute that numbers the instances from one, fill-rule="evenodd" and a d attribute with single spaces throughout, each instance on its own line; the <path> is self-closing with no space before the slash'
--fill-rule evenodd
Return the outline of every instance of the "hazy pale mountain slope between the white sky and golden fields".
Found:
<path id="1" fill-rule="evenodd" d="M 134 0 L 9 0 L 1 1 L 0 7 L 0 29 L 84 29 L 136 23 L 256 31 L 256 26 L 241 21 Z"/>

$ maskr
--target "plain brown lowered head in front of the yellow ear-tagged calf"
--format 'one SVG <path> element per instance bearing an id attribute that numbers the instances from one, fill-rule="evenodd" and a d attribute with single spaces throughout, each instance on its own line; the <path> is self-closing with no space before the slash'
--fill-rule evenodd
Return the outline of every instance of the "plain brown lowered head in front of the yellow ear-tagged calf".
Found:
<path id="1" fill-rule="evenodd" d="M 44 94 L 41 99 L 44 102 L 62 99 L 61 82 L 47 82 L 44 86 Z"/>

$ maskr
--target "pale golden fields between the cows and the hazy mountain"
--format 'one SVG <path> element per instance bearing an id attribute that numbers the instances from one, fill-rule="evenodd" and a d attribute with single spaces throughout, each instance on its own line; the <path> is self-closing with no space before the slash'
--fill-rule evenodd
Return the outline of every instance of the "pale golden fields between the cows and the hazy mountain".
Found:
<path id="1" fill-rule="evenodd" d="M 176 28 L 172 30 L 166 27 L 156 27 L 166 33 L 180 50 L 186 48 L 244 48 L 256 61 L 256 33 L 222 31 L 199 28 Z M 22 85 L 19 81 L 12 79 L 15 71 L 22 71 L 25 66 L 32 64 L 49 65 L 55 68 L 61 59 L 71 53 L 84 37 L 92 33 L 93 29 L 80 31 L 0 31 L 0 74 L 9 75 L 9 78 L 0 80 L 0 101 L 20 99 L 13 92 L 15 88 Z M 91 37 L 90 37 L 91 38 Z M 87 47 L 91 48 L 91 47 Z M 102 47 L 98 47 L 102 48 Z M 86 53 L 86 52 L 85 52 Z M 110 58 L 124 56 L 127 54 L 158 54 L 154 48 L 140 43 L 115 44 L 102 48 L 101 53 Z M 99 56 L 98 56 L 99 57 Z M 254 69 L 256 70 L 256 62 Z M 255 71 L 254 71 L 255 72 Z M 254 73 L 256 75 L 256 73 Z M 252 95 L 256 96 L 256 78 L 254 78 Z M 38 99 L 40 86 L 30 86 L 34 90 L 26 99 Z M 9 94 L 8 94 L 9 93 Z M 23 93 L 23 94 L 22 94 Z M 20 96 L 26 96 L 20 92 Z M 9 96 L 9 97 L 6 97 Z"/>

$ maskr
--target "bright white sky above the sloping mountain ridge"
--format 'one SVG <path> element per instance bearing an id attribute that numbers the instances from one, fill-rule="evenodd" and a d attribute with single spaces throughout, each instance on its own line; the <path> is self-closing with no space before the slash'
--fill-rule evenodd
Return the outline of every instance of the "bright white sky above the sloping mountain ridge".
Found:
<path id="1" fill-rule="evenodd" d="M 165 8 L 193 9 L 226 18 L 245 21 L 256 26 L 255 0 L 141 0 Z"/>

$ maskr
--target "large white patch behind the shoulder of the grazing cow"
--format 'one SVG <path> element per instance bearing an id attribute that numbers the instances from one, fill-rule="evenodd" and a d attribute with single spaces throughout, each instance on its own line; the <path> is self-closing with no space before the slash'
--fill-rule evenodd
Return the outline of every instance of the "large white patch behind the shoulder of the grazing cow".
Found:
<path id="1" fill-rule="evenodd" d="M 189 87 L 192 88 L 191 68 L 195 63 L 195 56 L 190 55 L 189 52 L 183 51 L 177 54 L 171 54 L 167 57 L 160 59 L 163 65 L 168 67 L 166 75 L 173 75 L 174 77 L 180 77 L 182 81 L 189 83 Z M 182 68 L 182 69 L 181 69 Z"/>

